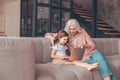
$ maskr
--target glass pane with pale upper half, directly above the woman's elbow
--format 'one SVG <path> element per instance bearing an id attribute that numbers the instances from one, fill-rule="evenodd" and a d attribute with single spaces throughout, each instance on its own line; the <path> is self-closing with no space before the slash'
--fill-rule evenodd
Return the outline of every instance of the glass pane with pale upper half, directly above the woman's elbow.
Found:
<path id="1" fill-rule="evenodd" d="M 37 32 L 38 36 L 41 36 L 48 32 L 49 8 L 38 6 L 37 11 Z"/>

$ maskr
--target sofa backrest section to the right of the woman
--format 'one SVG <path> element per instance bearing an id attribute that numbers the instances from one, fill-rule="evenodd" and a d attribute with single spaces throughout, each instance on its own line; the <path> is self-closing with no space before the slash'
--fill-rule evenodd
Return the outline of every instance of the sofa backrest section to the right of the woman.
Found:
<path id="1" fill-rule="evenodd" d="M 97 49 L 105 56 L 118 54 L 120 40 L 115 38 L 93 38 Z"/>

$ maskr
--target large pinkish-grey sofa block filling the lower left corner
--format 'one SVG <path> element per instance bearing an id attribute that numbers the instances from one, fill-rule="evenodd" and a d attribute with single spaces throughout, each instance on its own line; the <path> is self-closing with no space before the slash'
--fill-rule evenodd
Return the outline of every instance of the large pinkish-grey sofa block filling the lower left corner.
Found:
<path id="1" fill-rule="evenodd" d="M 31 41 L 0 38 L 0 80 L 35 80 Z"/>

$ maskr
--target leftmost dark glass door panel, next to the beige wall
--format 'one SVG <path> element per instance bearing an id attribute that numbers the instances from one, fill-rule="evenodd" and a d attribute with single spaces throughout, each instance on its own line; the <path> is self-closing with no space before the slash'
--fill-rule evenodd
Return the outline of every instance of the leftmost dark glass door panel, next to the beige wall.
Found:
<path id="1" fill-rule="evenodd" d="M 20 36 L 32 36 L 33 0 L 21 0 Z"/>

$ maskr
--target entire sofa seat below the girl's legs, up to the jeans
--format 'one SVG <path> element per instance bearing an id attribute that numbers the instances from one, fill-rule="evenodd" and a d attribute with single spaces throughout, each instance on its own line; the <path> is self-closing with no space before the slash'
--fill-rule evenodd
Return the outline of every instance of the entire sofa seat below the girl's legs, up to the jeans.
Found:
<path id="1" fill-rule="evenodd" d="M 96 71 L 95 71 L 96 72 Z M 93 72 L 74 65 L 36 64 L 36 80 L 93 80 Z M 101 80 L 99 73 L 95 74 Z"/>

